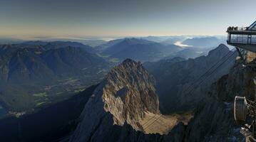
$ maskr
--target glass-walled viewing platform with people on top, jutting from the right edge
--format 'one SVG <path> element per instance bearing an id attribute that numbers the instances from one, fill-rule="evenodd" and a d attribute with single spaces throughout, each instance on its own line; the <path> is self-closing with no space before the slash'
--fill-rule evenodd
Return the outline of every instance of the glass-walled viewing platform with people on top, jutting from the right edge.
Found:
<path id="1" fill-rule="evenodd" d="M 248 51 L 256 53 L 256 21 L 249 27 L 228 27 L 227 44 L 235 46 L 246 65 Z"/>

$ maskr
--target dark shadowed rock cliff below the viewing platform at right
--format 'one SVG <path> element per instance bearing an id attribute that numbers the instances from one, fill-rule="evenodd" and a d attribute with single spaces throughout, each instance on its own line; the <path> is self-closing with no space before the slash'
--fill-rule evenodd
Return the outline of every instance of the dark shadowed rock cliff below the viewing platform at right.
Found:
<path id="1" fill-rule="evenodd" d="M 198 107 L 198 113 L 188 125 L 185 141 L 245 141 L 240 126 L 235 123 L 232 107 L 236 95 L 254 100 L 252 78 L 255 75 L 255 71 L 238 61 L 228 75 L 215 82 L 205 105 Z"/>

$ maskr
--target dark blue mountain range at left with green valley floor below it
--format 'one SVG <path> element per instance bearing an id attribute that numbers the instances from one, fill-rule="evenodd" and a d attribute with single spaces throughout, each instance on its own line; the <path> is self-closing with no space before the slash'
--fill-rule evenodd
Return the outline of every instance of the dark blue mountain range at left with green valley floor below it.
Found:
<path id="1" fill-rule="evenodd" d="M 1 104 L 24 111 L 95 84 L 109 64 L 93 52 L 73 42 L 0 45 Z"/>

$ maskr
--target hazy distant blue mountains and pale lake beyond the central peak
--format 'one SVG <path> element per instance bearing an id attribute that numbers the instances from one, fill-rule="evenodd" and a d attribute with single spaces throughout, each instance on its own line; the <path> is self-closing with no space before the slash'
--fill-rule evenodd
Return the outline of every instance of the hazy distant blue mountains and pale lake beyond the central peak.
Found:
<path id="1" fill-rule="evenodd" d="M 188 47 L 180 47 L 177 42 Z M 121 38 L 111 40 L 94 49 L 103 57 L 121 62 L 126 58 L 147 62 L 164 58 L 197 58 L 206 55 L 220 43 L 225 43 L 222 37 L 194 37 L 186 36 L 149 36 L 144 38 Z M 175 44 L 175 45 L 174 45 Z"/>

